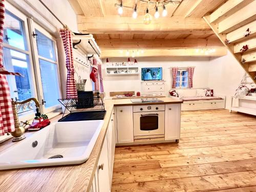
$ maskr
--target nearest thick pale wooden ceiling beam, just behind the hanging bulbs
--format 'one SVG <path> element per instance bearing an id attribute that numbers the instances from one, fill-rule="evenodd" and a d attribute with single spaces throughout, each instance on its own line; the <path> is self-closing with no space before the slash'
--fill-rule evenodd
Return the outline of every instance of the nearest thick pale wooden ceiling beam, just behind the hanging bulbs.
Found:
<path id="1" fill-rule="evenodd" d="M 152 18 L 150 25 L 143 24 L 143 16 L 137 19 L 132 17 L 120 17 L 118 15 L 108 15 L 104 17 L 86 17 L 77 15 L 78 30 L 89 33 L 158 33 L 175 32 L 185 33 L 211 32 L 210 27 L 202 18 L 184 18 L 173 16 L 171 18 Z"/>

